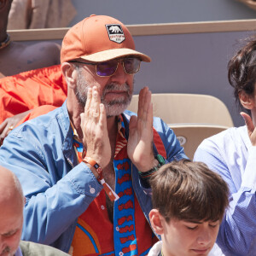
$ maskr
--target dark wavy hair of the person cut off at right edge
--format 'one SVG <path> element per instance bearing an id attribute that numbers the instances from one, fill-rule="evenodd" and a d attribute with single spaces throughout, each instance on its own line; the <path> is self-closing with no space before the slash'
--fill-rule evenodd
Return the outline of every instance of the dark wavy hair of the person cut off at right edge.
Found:
<path id="1" fill-rule="evenodd" d="M 247 95 L 254 95 L 256 84 L 256 36 L 247 38 L 245 44 L 239 49 L 228 64 L 228 78 L 230 85 L 234 88 L 236 102 L 241 110 L 250 113 L 250 110 L 243 108 L 239 100 L 239 93 L 243 90 Z"/>

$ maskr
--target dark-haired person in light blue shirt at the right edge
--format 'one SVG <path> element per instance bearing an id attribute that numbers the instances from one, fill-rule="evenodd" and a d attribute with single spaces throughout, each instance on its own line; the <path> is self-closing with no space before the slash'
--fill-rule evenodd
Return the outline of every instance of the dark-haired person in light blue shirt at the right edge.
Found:
<path id="1" fill-rule="evenodd" d="M 218 233 L 225 255 L 256 252 L 256 38 L 230 60 L 229 81 L 246 125 L 204 140 L 194 160 L 218 172 L 230 187 L 230 207 Z M 246 113 L 245 113 L 246 112 Z"/>

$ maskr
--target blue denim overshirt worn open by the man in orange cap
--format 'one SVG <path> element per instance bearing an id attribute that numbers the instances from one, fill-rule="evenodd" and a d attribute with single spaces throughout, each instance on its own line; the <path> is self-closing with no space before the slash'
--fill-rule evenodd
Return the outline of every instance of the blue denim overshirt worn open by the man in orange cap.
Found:
<path id="1" fill-rule="evenodd" d="M 127 138 L 132 114 L 135 113 L 124 113 Z M 154 128 L 166 148 L 166 161 L 186 158 L 173 131 L 161 119 L 154 118 Z M 154 153 L 157 154 L 155 147 Z M 15 172 L 26 196 L 21 239 L 68 252 L 77 218 L 96 198 L 102 185 L 88 166 L 78 163 L 66 102 L 13 130 L 0 148 L 0 165 Z M 135 166 L 132 183 L 148 218 L 152 207 L 150 189 L 143 188 Z"/>

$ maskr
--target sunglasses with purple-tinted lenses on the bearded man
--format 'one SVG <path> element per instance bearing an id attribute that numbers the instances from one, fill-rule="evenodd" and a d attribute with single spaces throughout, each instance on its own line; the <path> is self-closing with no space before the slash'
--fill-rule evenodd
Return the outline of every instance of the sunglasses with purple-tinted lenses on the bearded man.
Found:
<path id="1" fill-rule="evenodd" d="M 141 60 L 138 58 L 122 58 L 122 59 L 113 59 L 110 61 L 97 62 L 97 63 L 87 63 L 84 61 L 70 61 L 78 62 L 86 65 L 94 65 L 96 67 L 96 74 L 99 77 L 110 77 L 112 76 L 119 67 L 119 62 L 122 62 L 124 71 L 127 74 L 134 74 L 140 70 Z"/>

